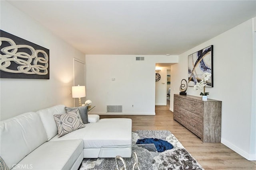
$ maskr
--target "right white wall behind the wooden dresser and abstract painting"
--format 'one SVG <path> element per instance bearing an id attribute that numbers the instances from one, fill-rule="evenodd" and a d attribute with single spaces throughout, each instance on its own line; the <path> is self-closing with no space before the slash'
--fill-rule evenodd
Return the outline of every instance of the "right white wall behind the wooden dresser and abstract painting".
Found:
<path id="1" fill-rule="evenodd" d="M 171 96 L 179 93 L 180 80 L 188 79 L 188 55 L 213 45 L 214 87 L 206 88 L 206 92 L 210 92 L 208 98 L 222 101 L 221 141 L 245 158 L 256 160 L 252 25 L 252 19 L 248 20 L 179 55 L 179 63 L 171 66 Z M 200 91 L 188 87 L 187 94 L 200 96 Z"/>

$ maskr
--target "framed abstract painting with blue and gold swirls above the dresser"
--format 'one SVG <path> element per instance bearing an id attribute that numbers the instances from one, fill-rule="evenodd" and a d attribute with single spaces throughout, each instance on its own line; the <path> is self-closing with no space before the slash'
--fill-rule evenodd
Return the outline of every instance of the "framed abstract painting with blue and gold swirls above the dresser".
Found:
<path id="1" fill-rule="evenodd" d="M 188 56 L 188 86 L 200 82 L 205 72 L 212 74 L 206 87 L 213 87 L 213 45 Z"/>

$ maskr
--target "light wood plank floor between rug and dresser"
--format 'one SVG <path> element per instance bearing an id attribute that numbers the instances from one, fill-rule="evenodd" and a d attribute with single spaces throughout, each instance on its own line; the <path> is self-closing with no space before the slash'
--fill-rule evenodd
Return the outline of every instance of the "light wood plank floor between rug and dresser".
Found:
<path id="1" fill-rule="evenodd" d="M 156 115 L 100 115 L 100 118 L 130 118 L 132 131 L 169 130 L 205 170 L 256 170 L 256 161 L 246 160 L 222 143 L 202 143 L 194 133 L 173 120 L 169 109 L 170 105 L 156 106 Z"/>

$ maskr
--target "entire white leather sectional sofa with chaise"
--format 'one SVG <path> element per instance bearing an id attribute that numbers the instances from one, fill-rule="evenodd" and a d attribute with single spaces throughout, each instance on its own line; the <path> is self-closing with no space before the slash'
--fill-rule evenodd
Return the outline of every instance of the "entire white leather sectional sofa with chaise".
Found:
<path id="1" fill-rule="evenodd" d="M 77 170 L 83 158 L 97 158 L 102 146 L 131 145 L 131 119 L 100 119 L 58 137 L 54 114 L 66 113 L 64 105 L 28 112 L 1 121 L 0 156 L 9 169 Z M 113 150 L 108 156 L 129 157 L 131 150 Z"/>

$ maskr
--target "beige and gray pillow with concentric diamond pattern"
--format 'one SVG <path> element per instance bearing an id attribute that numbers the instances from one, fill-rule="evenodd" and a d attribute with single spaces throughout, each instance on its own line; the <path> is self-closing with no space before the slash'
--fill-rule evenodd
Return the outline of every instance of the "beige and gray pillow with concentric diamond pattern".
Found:
<path id="1" fill-rule="evenodd" d="M 53 115 L 53 117 L 58 128 L 59 137 L 85 127 L 78 109 L 61 115 Z"/>

